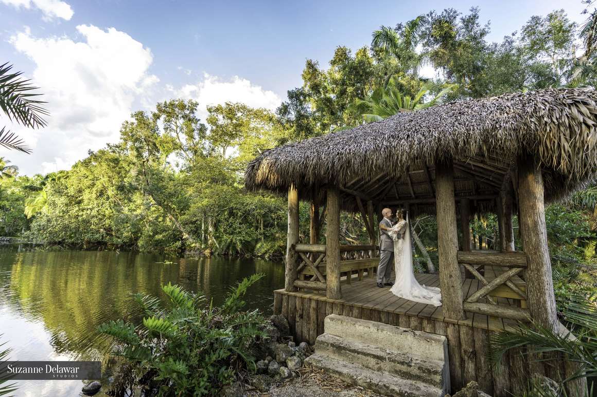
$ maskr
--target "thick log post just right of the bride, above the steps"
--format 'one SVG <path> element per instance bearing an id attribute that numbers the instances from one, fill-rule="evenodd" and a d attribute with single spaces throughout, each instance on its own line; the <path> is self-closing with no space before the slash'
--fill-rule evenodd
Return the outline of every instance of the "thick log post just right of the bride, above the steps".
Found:
<path id="1" fill-rule="evenodd" d="M 436 212 L 438 220 L 439 286 L 442 290 L 444 315 L 464 320 L 462 278 L 458 265 L 458 232 L 452 160 L 435 164 Z"/>

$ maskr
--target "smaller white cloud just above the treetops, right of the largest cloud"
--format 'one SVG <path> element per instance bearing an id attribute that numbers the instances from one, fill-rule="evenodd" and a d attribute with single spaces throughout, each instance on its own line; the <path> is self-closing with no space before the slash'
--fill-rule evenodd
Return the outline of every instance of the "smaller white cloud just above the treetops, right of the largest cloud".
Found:
<path id="1" fill-rule="evenodd" d="M 203 80 L 196 84 L 187 84 L 180 89 L 167 86 L 177 98 L 198 101 L 198 114 L 201 120 L 207 116 L 208 105 L 223 104 L 224 102 L 241 102 L 251 107 L 264 107 L 275 110 L 282 99 L 273 91 L 265 90 L 259 85 L 252 84 L 247 79 L 234 76 L 230 80 L 223 80 L 217 76 L 204 73 Z"/>

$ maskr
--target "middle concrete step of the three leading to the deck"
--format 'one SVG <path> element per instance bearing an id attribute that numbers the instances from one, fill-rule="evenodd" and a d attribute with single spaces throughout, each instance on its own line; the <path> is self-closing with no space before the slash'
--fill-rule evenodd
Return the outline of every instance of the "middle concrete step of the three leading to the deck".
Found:
<path id="1" fill-rule="evenodd" d="M 449 388 L 449 371 L 443 360 L 423 359 L 413 353 L 394 352 L 327 333 L 317 337 L 315 351 L 373 371 L 432 384 L 446 391 Z"/>

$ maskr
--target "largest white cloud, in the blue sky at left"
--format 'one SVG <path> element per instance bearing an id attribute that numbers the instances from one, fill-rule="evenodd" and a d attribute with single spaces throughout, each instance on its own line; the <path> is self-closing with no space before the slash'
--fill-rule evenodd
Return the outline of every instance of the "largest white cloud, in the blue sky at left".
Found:
<path id="1" fill-rule="evenodd" d="M 13 128 L 33 148 L 30 159 L 11 154 L 21 172 L 67 168 L 87 150 L 117 141 L 134 103 L 159 81 L 148 72 L 151 51 L 127 33 L 91 25 L 76 29 L 84 41 L 35 38 L 28 29 L 10 39 L 35 63 L 32 79 L 51 113 L 44 129 Z"/>

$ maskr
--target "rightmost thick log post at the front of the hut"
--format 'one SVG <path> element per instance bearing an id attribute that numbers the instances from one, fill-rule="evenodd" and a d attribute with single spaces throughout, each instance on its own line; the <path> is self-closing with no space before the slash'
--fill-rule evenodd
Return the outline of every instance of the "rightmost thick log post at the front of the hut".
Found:
<path id="1" fill-rule="evenodd" d="M 553 294 L 552 263 L 547 249 L 543 176 L 538 161 L 530 154 L 517 159 L 519 227 L 527 256 L 527 297 L 531 317 L 543 327 L 558 329 Z"/>

